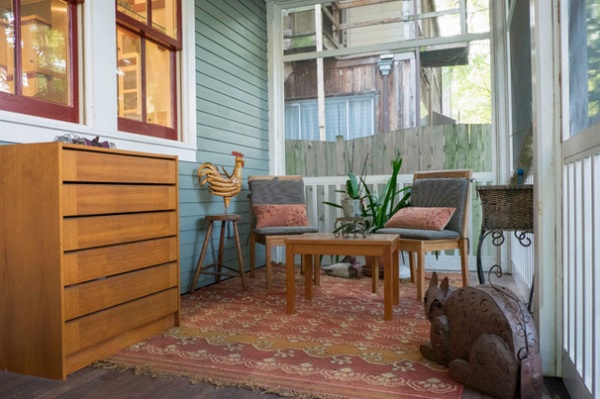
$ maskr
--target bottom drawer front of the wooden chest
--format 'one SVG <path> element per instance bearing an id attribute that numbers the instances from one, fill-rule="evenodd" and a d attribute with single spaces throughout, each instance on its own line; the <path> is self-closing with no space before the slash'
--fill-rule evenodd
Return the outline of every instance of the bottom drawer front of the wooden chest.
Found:
<path id="1" fill-rule="evenodd" d="M 90 348 L 137 327 L 179 311 L 176 288 L 127 302 L 65 323 L 67 355 Z"/>

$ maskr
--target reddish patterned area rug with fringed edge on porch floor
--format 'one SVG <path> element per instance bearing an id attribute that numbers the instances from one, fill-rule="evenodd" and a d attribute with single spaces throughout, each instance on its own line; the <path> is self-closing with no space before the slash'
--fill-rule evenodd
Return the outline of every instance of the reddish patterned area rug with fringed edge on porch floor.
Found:
<path id="1" fill-rule="evenodd" d="M 312 301 L 297 275 L 297 314 L 285 313 L 285 267 L 182 296 L 181 326 L 96 366 L 236 386 L 297 398 L 460 398 L 462 385 L 421 356 L 429 322 L 416 287 L 400 282 L 394 320 L 383 320 L 383 284 L 322 275 Z"/>

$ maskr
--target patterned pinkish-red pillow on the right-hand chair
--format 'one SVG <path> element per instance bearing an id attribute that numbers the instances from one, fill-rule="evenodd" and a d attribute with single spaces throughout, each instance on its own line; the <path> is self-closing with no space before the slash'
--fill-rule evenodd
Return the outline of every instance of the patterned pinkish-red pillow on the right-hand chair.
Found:
<path id="1" fill-rule="evenodd" d="M 456 208 L 402 208 L 385 224 L 388 228 L 443 230 Z"/>

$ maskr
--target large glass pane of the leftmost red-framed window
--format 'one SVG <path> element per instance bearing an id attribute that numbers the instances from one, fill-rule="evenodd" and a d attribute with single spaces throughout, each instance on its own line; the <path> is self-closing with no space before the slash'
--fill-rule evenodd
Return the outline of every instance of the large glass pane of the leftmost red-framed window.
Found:
<path id="1" fill-rule="evenodd" d="M 68 13 L 65 1 L 22 3 L 23 95 L 70 105 Z"/>

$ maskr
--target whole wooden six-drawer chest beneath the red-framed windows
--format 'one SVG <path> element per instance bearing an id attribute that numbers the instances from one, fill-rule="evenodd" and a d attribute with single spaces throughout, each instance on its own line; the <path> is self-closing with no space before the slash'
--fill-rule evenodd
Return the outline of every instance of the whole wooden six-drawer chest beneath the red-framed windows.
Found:
<path id="1" fill-rule="evenodd" d="M 179 325 L 177 158 L 0 146 L 0 370 L 64 379 Z"/>

